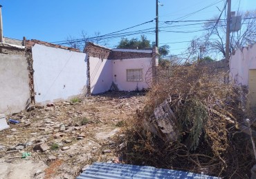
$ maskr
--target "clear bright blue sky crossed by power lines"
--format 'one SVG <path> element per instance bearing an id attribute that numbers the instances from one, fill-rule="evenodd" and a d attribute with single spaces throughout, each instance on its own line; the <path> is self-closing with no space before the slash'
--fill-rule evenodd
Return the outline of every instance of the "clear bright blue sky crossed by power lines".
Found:
<path id="1" fill-rule="evenodd" d="M 239 6 L 240 1 L 240 6 Z M 203 32 L 177 33 L 166 31 L 193 31 L 201 30 L 201 25 L 170 26 L 164 21 L 201 20 L 210 19 L 218 15 L 218 10 L 223 8 L 224 0 L 161 0 L 163 6 L 159 6 L 159 44 L 170 45 L 172 54 L 179 54 L 185 50 L 188 43 L 176 43 L 190 41 L 194 36 Z M 0 0 L 3 6 L 3 36 L 13 39 L 38 39 L 41 41 L 55 42 L 64 41 L 67 36 L 81 38 L 82 30 L 88 36 L 94 36 L 95 32 L 108 34 L 140 23 L 151 21 L 156 17 L 155 0 Z M 212 6 L 210 6 L 212 5 Z M 210 6 L 209 8 L 205 8 Z M 218 8 L 217 8 L 218 7 Z M 232 11 L 255 10 L 255 0 L 232 0 Z M 201 10 L 205 8 L 204 10 Z M 201 10 L 199 12 L 196 12 Z M 188 17 L 187 14 L 196 12 Z M 155 21 L 131 28 L 124 32 L 155 28 Z M 173 23 L 181 25 L 184 23 Z M 151 29 L 149 31 L 154 31 Z M 154 41 L 154 32 L 144 33 L 147 38 Z M 135 36 L 125 36 L 128 39 Z M 107 41 L 109 48 L 114 48 L 120 41 L 120 37 Z"/>

